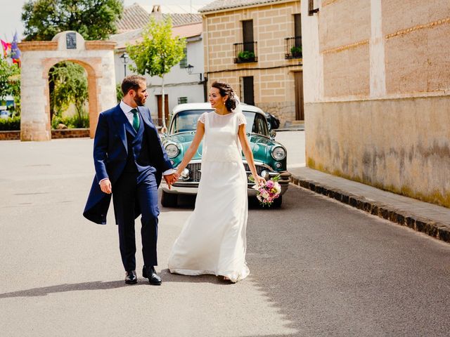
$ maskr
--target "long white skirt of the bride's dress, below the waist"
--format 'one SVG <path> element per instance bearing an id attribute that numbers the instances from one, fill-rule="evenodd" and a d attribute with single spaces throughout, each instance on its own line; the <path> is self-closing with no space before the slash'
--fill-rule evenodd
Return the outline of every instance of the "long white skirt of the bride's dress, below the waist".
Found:
<path id="1" fill-rule="evenodd" d="M 182 275 L 245 279 L 248 218 L 247 176 L 242 163 L 204 162 L 195 209 L 169 256 L 169 270 Z"/>

